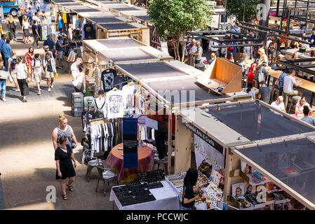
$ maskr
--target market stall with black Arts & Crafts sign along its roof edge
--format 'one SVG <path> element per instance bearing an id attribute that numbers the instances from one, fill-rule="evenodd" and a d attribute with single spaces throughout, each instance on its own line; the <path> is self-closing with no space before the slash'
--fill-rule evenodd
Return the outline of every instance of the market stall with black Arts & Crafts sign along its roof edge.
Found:
<path id="1" fill-rule="evenodd" d="M 224 174 L 224 202 L 229 201 L 241 209 L 260 209 L 262 203 L 258 203 L 260 205 L 255 207 L 246 200 L 245 202 L 237 201 L 239 192 L 236 191 L 236 188 L 240 188 L 241 194 L 244 194 L 246 183 L 254 181 L 255 184 L 252 187 L 264 185 L 268 183 L 269 176 L 267 179 L 257 181 L 257 176 L 266 173 L 254 167 L 250 169 L 258 170 L 259 174 L 255 173 L 256 176 L 247 177 L 243 175 L 242 172 L 246 166 L 240 172 L 241 162 L 233 160 L 235 156 L 231 148 L 236 146 L 239 148 L 254 147 L 283 141 L 282 139 L 297 139 L 314 134 L 315 130 L 313 126 L 260 101 L 234 102 L 186 109 L 180 111 L 180 116 L 176 118 L 175 173 L 185 172 L 189 168 L 192 149 L 190 137 L 193 132 L 197 167 L 203 160 L 206 160 L 213 169 L 224 169 L 224 173 L 222 172 Z M 184 150 L 185 148 L 186 150 Z M 183 158 L 186 158 L 185 162 L 183 162 Z M 199 158 L 198 161 L 197 158 Z M 274 183 L 276 186 L 283 186 L 281 181 Z M 232 188 L 233 186 L 234 188 Z M 260 191 L 260 188 L 257 188 L 257 191 Z M 291 192 L 288 193 L 292 195 Z M 279 198 L 283 199 L 280 196 Z M 295 199 L 302 201 L 297 197 Z M 269 204 L 263 205 L 275 204 L 276 201 L 278 203 L 279 200 L 269 200 Z"/>

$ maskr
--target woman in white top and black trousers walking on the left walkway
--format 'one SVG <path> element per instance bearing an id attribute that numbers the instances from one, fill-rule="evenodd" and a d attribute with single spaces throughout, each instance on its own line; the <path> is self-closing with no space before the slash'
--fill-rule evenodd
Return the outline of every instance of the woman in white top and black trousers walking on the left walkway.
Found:
<path id="1" fill-rule="evenodd" d="M 16 78 L 18 79 L 18 85 L 21 90 L 22 102 L 26 103 L 26 97 L 29 94 L 29 85 L 27 84 L 27 77 L 29 77 L 29 71 L 27 71 L 27 66 L 22 63 L 22 57 L 18 57 L 16 60 L 17 64 L 15 66 Z"/>

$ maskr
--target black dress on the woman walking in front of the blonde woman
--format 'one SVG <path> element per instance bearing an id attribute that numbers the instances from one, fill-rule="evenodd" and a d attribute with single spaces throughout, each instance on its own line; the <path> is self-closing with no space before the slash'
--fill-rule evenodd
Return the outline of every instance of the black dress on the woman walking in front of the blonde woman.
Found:
<path id="1" fill-rule="evenodd" d="M 69 177 L 76 176 L 71 159 L 72 149 L 67 145 L 67 153 L 62 151 L 60 147 L 55 150 L 55 160 L 59 160 L 60 172 L 62 177 L 58 176 L 58 170 L 56 170 L 56 179 L 67 179 Z"/>

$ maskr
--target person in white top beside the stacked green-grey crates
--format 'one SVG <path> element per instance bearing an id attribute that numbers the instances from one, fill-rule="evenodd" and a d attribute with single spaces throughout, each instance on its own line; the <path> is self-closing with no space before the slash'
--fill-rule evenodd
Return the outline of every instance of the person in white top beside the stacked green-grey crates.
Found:
<path id="1" fill-rule="evenodd" d="M 86 76 L 83 73 L 83 60 L 81 57 L 76 57 L 71 66 L 71 74 L 74 91 L 86 93 Z"/>

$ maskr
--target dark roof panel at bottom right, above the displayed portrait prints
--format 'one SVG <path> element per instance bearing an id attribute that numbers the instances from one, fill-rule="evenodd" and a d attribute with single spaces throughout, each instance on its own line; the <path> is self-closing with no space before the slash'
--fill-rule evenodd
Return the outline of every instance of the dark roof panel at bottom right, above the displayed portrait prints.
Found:
<path id="1" fill-rule="evenodd" d="M 315 204 L 314 141 L 298 139 L 236 151 Z"/>

